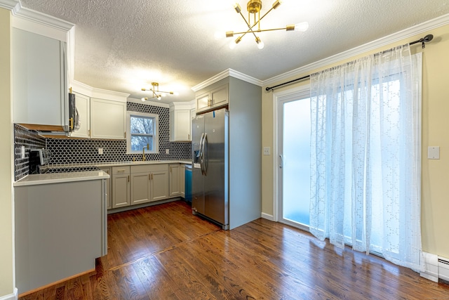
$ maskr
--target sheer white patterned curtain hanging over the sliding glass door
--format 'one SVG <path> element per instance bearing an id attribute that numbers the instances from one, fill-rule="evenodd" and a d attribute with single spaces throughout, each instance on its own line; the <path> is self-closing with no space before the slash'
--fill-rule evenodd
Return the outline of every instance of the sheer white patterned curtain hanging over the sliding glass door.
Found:
<path id="1" fill-rule="evenodd" d="M 421 60 L 406 45 L 311 75 L 311 233 L 417 271 Z"/>

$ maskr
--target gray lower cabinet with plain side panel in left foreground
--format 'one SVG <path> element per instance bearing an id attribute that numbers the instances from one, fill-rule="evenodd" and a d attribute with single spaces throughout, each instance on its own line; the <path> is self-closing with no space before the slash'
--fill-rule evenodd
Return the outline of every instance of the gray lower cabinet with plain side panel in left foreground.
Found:
<path id="1" fill-rule="evenodd" d="M 95 270 L 107 254 L 105 179 L 14 188 L 19 294 Z"/>

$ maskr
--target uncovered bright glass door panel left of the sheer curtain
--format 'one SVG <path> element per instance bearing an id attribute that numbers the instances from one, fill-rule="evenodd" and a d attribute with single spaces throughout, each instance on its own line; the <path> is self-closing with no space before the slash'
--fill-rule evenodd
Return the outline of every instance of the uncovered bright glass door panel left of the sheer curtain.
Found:
<path id="1" fill-rule="evenodd" d="M 282 223 L 307 229 L 310 203 L 310 98 L 278 98 L 278 190 Z"/>

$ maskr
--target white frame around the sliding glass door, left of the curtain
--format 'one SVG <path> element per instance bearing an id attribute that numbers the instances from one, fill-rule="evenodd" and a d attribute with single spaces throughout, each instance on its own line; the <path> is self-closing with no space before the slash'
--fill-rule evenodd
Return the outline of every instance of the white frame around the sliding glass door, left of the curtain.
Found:
<path id="1" fill-rule="evenodd" d="M 310 84 L 297 86 L 293 89 L 273 93 L 273 221 L 279 222 L 279 103 L 285 100 L 299 100 L 310 97 Z"/>

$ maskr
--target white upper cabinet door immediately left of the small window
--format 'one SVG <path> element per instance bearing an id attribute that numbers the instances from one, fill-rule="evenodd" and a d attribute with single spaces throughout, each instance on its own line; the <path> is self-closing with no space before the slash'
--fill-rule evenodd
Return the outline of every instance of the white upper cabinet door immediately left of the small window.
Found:
<path id="1" fill-rule="evenodd" d="M 126 103 L 91 98 L 91 138 L 124 139 Z"/>

